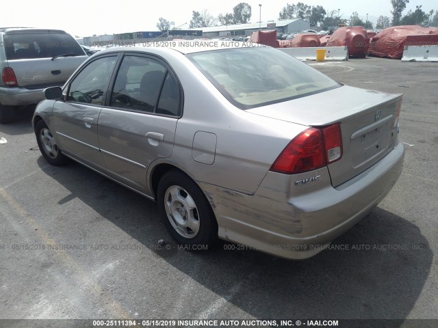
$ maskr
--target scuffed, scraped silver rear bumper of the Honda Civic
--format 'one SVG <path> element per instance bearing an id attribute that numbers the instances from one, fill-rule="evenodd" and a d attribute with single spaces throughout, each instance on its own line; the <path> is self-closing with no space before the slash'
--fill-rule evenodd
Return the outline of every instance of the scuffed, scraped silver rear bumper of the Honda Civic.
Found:
<path id="1" fill-rule="evenodd" d="M 398 143 L 381 161 L 339 187 L 322 180 L 316 191 L 303 195 L 292 196 L 290 176 L 274 172 L 268 172 L 255 195 L 200 186 L 216 214 L 220 238 L 304 259 L 318 254 L 383 200 L 401 174 L 403 159 L 404 148 Z"/>

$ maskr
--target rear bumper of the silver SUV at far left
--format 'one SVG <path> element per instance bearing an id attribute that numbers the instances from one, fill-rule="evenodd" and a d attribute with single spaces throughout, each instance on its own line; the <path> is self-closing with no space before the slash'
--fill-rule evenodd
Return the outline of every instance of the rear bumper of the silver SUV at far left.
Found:
<path id="1" fill-rule="evenodd" d="M 55 85 L 47 85 L 38 89 L 27 89 L 25 87 L 0 87 L 0 104 L 5 106 L 26 106 L 38 104 L 44 100 L 44 90 L 47 87 Z M 62 87 L 61 84 L 56 86 Z"/>

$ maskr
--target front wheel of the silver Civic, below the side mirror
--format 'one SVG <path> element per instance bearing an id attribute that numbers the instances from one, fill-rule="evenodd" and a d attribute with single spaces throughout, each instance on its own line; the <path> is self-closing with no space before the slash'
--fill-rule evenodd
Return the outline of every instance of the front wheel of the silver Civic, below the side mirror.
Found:
<path id="1" fill-rule="evenodd" d="M 38 148 L 40 148 L 40 152 L 46 161 L 56 166 L 68 163 L 69 159 L 58 148 L 46 122 L 43 120 L 38 121 L 35 127 L 35 135 Z"/>

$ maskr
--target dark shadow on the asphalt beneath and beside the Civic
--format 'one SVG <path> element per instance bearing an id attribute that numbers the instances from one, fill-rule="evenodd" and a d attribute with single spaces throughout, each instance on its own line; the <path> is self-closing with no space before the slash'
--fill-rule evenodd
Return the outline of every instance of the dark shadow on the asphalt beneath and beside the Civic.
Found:
<path id="1" fill-rule="evenodd" d="M 420 229 L 379 207 L 308 260 L 284 260 L 226 242 L 209 251 L 186 251 L 175 247 L 155 203 L 77 163 L 48 167 L 40 157 L 38 165 L 70 191 L 60 206 L 78 197 L 142 245 L 163 238 L 171 247 L 154 248 L 157 256 L 255 318 L 403 319 L 433 261 Z"/>

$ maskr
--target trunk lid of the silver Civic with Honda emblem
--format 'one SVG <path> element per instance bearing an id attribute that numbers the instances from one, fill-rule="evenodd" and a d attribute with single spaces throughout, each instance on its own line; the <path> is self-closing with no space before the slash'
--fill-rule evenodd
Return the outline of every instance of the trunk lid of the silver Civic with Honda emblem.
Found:
<path id="1" fill-rule="evenodd" d="M 394 148 L 401 99 L 401 94 L 342 86 L 248 112 L 313 127 L 339 123 L 342 158 L 328 165 L 332 185 L 337 187 Z"/>

